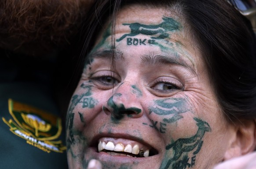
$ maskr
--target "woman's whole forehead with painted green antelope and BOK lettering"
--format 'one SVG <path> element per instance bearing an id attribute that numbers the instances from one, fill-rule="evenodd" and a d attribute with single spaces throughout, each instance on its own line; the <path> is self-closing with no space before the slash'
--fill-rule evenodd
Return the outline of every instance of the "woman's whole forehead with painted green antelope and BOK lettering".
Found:
<path id="1" fill-rule="evenodd" d="M 191 38 L 185 31 L 184 23 L 177 11 L 138 4 L 123 7 L 115 22 L 114 48 L 117 53 L 128 53 L 132 57 L 141 57 L 143 53 L 176 56 L 192 68 L 195 66 L 194 56 L 197 54 L 194 53 L 197 50 L 190 43 Z M 112 22 L 105 25 L 91 53 L 113 47 L 111 31 Z"/>

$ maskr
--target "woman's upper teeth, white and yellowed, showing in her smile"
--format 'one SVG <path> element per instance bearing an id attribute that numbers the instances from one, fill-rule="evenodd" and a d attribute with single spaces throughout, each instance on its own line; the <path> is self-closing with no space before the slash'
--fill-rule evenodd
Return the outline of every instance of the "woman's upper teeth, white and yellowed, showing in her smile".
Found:
<path id="1" fill-rule="evenodd" d="M 109 141 L 107 142 L 107 144 L 103 141 L 99 141 L 98 144 L 98 151 L 102 151 L 103 149 L 105 150 L 110 150 L 110 151 L 119 151 L 119 152 L 128 152 L 128 153 L 132 153 L 134 155 L 138 155 L 139 154 L 139 145 L 135 144 L 133 147 L 131 144 L 127 144 L 125 147 L 123 144 L 118 143 L 118 144 L 114 144 L 113 142 Z M 144 157 L 148 157 L 149 156 L 149 150 L 144 151 L 143 154 Z"/>

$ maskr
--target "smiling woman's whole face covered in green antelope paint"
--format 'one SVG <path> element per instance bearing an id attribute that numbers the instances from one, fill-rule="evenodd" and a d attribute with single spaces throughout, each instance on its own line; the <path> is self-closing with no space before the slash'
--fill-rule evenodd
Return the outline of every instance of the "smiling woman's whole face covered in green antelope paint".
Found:
<path id="1" fill-rule="evenodd" d="M 225 121 L 202 54 L 175 12 L 143 6 L 118 14 L 88 56 L 67 115 L 69 167 L 208 169 L 223 160 Z"/>

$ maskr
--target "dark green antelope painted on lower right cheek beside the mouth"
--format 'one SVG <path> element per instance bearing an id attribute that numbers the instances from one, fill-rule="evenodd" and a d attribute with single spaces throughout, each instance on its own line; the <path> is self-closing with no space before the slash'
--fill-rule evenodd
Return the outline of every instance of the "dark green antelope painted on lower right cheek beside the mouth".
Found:
<path id="1" fill-rule="evenodd" d="M 202 139 L 206 132 L 211 131 L 211 127 L 201 119 L 194 118 L 194 120 L 198 126 L 197 133 L 190 138 L 180 138 L 172 144 L 168 144 L 165 149 L 167 151 L 172 150 L 173 157 L 170 159 L 165 158 L 160 169 L 168 169 L 170 165 L 172 165 L 173 169 L 186 169 L 195 165 L 196 155 L 203 145 Z M 188 157 L 188 153 L 192 153 L 193 155 L 191 160 Z"/>

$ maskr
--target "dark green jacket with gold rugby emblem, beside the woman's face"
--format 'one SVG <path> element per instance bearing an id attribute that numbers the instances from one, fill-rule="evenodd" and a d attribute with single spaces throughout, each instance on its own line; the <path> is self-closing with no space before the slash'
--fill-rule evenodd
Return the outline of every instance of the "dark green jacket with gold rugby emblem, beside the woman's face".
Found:
<path id="1" fill-rule="evenodd" d="M 65 128 L 51 85 L 17 80 L 7 69 L 0 56 L 0 169 L 67 169 Z"/>

